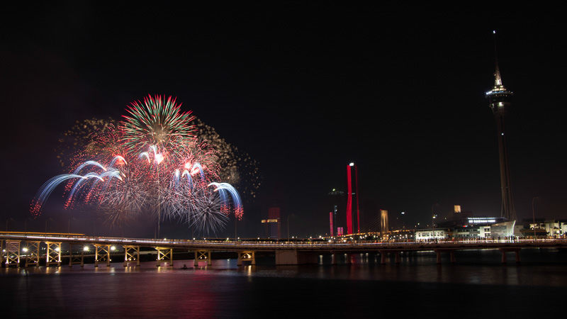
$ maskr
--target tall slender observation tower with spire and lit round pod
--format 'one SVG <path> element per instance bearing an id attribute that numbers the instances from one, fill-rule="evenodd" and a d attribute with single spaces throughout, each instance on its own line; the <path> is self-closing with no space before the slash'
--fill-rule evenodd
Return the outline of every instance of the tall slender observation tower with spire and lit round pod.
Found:
<path id="1" fill-rule="evenodd" d="M 494 33 L 496 33 L 494 31 Z M 500 185 L 502 187 L 502 213 L 501 216 L 508 220 L 516 220 L 514 199 L 512 198 L 512 184 L 510 183 L 510 164 L 508 164 L 508 147 L 506 143 L 505 118 L 507 109 L 510 108 L 512 91 L 508 91 L 502 84 L 500 69 L 498 69 L 498 57 L 496 56 L 496 43 L 494 45 L 496 71 L 494 73 L 494 87 L 486 93 L 490 101 L 490 108 L 496 118 L 498 129 L 498 150 L 500 152 Z"/>

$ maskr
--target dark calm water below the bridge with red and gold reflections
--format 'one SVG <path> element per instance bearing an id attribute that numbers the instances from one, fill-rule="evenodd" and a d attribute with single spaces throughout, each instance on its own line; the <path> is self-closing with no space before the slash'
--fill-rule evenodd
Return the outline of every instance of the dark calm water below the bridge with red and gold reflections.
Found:
<path id="1" fill-rule="evenodd" d="M 564 313 L 567 252 L 522 250 L 522 264 L 500 252 L 457 252 L 435 264 L 433 252 L 402 254 L 380 264 L 375 254 L 356 254 L 352 264 L 237 267 L 236 259 L 213 267 L 1 269 L 3 318 L 286 318 L 382 315 L 414 318 L 527 318 Z"/>

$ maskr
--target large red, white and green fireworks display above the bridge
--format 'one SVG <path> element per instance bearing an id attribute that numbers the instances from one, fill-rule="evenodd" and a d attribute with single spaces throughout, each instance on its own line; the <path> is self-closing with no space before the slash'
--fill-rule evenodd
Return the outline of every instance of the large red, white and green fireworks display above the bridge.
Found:
<path id="1" fill-rule="evenodd" d="M 111 227 L 151 216 L 158 223 L 179 220 L 198 232 L 217 233 L 232 213 L 242 218 L 240 195 L 222 182 L 226 150 L 193 136 L 190 112 L 179 108 L 171 97 L 148 96 L 132 103 L 123 122 L 77 122 L 64 141 L 78 150 L 73 154 L 67 147 L 58 154 L 73 169 L 40 188 L 33 215 L 63 184 L 65 208 L 92 204 Z"/>

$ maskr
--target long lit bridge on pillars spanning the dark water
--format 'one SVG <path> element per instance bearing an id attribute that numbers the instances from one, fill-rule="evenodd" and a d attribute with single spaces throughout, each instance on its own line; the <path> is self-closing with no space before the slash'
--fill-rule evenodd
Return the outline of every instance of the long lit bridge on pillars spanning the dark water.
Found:
<path id="1" fill-rule="evenodd" d="M 62 257 L 69 258 L 69 267 L 73 264 L 84 266 L 85 252 L 94 249 L 94 266 L 106 264 L 110 266 L 111 253 L 116 247 L 123 247 L 124 266 L 135 264 L 140 266 L 140 247 L 151 247 L 157 250 L 157 266 L 173 267 L 174 250 L 185 250 L 194 253 L 194 266 L 211 265 L 211 252 L 236 252 L 237 264 L 243 262 L 256 264 L 257 252 L 275 254 L 276 264 L 316 264 L 320 254 L 332 254 L 332 263 L 336 264 L 338 254 L 379 253 L 381 263 L 386 264 L 388 255 L 393 255 L 395 262 L 400 262 L 400 252 L 434 251 L 437 263 L 441 263 L 442 254 L 449 254 L 451 262 L 456 262 L 456 250 L 500 250 L 502 262 L 506 263 L 508 252 L 515 253 L 515 261 L 520 262 L 520 251 L 526 248 L 567 248 L 566 238 L 517 239 L 502 240 L 456 240 L 435 242 L 381 242 L 374 240 L 347 241 L 329 240 L 316 242 L 269 242 L 262 240 L 230 241 L 230 240 L 168 240 L 125 237 L 91 237 L 82 234 L 54 233 L 0 233 L 0 247 L 6 247 L 1 254 L 0 263 L 6 267 L 21 267 L 21 259 L 25 259 L 25 267 L 38 267 L 40 259 L 45 259 L 47 267 L 61 266 Z M 43 244 L 42 244 L 43 243 Z M 69 254 L 62 255 L 62 244 L 69 245 Z M 45 245 L 45 254 L 40 253 L 40 245 Z M 79 247 L 80 253 L 73 253 L 73 246 Z"/>

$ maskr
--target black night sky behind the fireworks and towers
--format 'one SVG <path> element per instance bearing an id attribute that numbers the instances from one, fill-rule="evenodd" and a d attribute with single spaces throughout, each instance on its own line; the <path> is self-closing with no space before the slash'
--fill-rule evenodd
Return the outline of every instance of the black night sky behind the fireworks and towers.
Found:
<path id="1" fill-rule="evenodd" d="M 75 231 L 93 232 L 86 213 L 57 205 L 26 222 L 30 202 L 60 174 L 53 150 L 64 130 L 119 118 L 147 94 L 176 96 L 259 162 L 263 183 L 245 203 L 243 236 L 262 232 L 269 206 L 281 207 L 284 233 L 292 213 L 292 234 L 327 233 L 327 193 L 346 190 L 349 162 L 359 169 L 363 229 L 381 208 L 405 211 L 411 224 L 427 223 L 434 203 L 440 216 L 453 205 L 499 216 L 496 125 L 485 99 L 493 30 L 503 82 L 515 92 L 507 132 L 517 214 L 531 217 L 539 196 L 537 216 L 567 218 L 566 25 L 553 11 L 323 1 L 13 7 L 0 24 L 0 222 L 43 230 L 52 218 L 59 228 L 50 229 L 66 231 L 75 218 Z"/>

